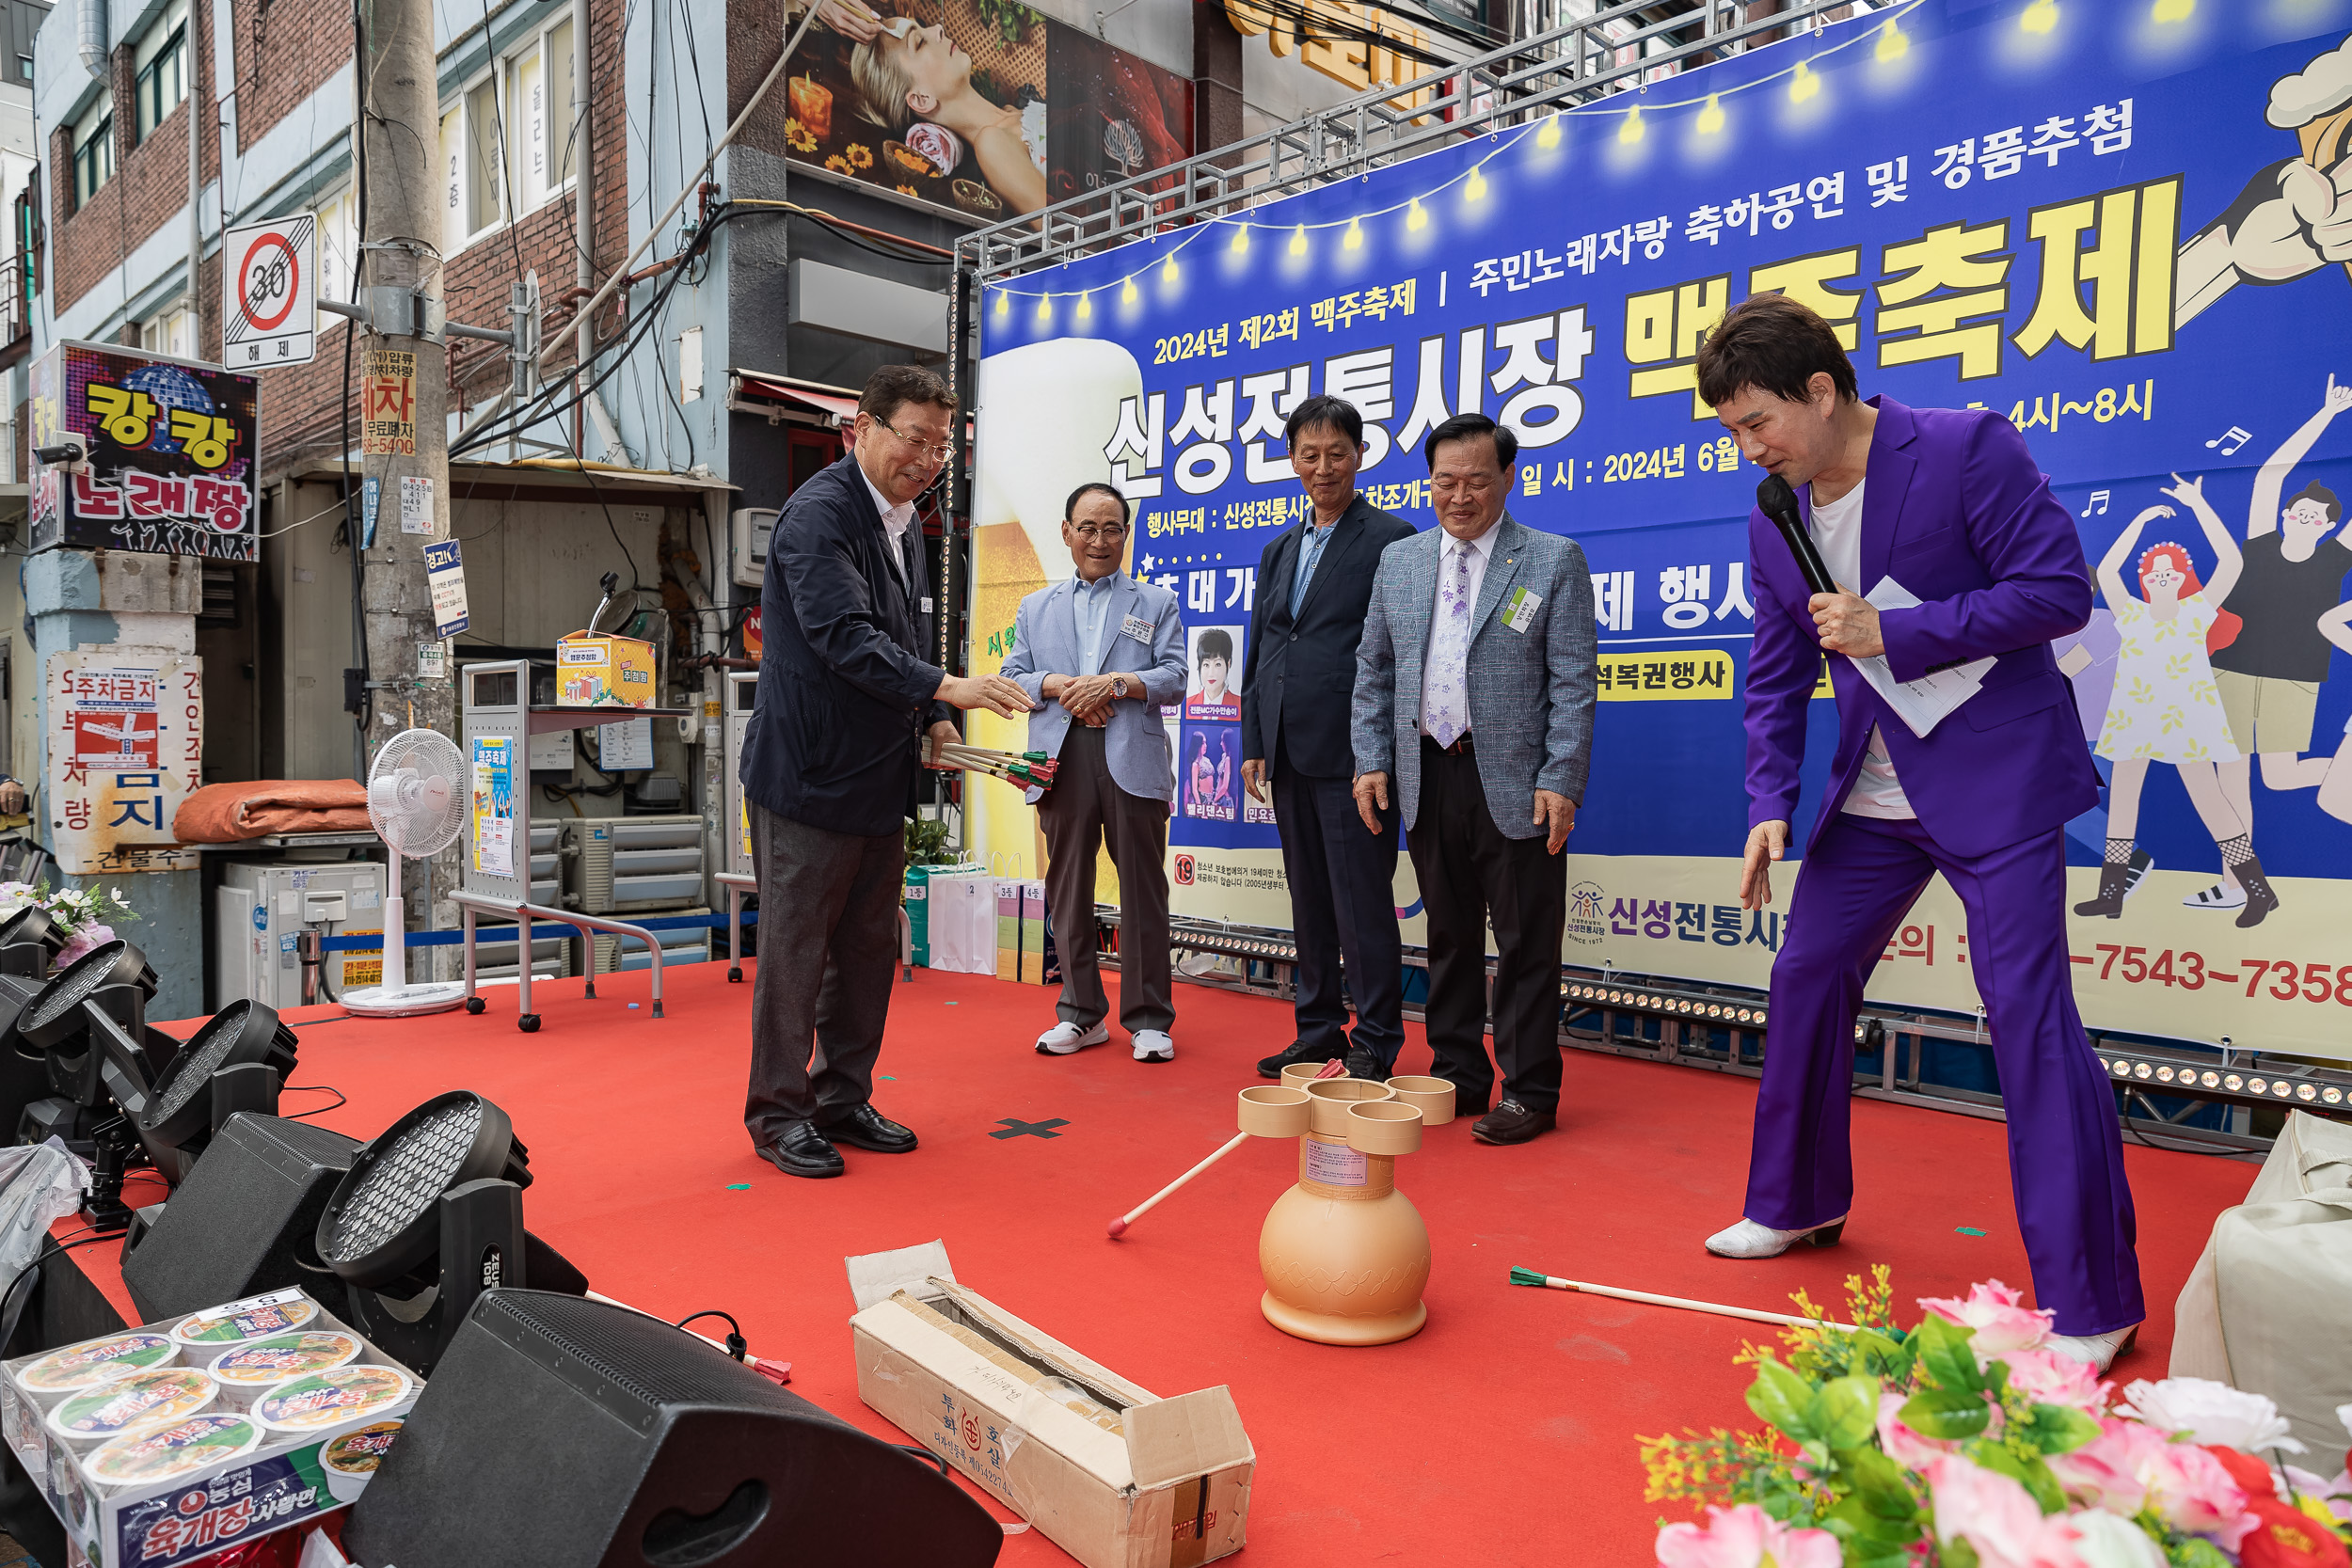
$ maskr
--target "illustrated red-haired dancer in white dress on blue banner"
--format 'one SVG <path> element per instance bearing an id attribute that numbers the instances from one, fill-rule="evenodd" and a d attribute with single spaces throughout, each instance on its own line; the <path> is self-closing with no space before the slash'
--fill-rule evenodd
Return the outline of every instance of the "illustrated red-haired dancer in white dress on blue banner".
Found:
<path id="1" fill-rule="evenodd" d="M 2213 548 L 2213 581 L 2199 583 L 2190 552 L 2161 541 L 2138 555 L 2140 592 L 2126 590 L 2124 562 L 2138 550 L 2150 522 L 2173 515 L 2169 505 L 2152 505 L 2133 517 L 2098 564 L 2098 585 L 2119 637 L 2107 722 L 2098 733 L 2098 755 L 2114 764 L 2114 773 L 2107 780 L 2107 849 L 2098 896 L 2074 905 L 2074 912 L 2107 919 L 2124 914 L 2147 764 L 2169 762 L 2180 773 L 2197 818 L 2213 835 L 2223 867 L 2246 889 L 2237 924 L 2258 926 L 2279 907 L 2279 896 L 2263 877 L 2244 818 L 2220 788 L 2218 769 L 2237 762 L 2239 750 L 2206 661 L 2209 639 L 2227 639 L 2239 630 L 2237 616 L 2220 604 L 2237 585 L 2241 557 L 2230 529 L 2206 505 L 2201 480 L 2173 475 L 2173 489 L 2164 494 L 2187 505 L 2204 527 Z"/>

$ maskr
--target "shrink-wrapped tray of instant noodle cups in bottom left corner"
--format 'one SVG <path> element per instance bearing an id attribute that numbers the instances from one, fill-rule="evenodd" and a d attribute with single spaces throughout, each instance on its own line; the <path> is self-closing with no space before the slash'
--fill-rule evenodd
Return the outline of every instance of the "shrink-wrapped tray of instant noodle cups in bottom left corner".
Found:
<path id="1" fill-rule="evenodd" d="M 0 1366 L 0 1436 L 94 1568 L 172 1568 L 350 1505 L 423 1380 L 273 1291 Z"/>

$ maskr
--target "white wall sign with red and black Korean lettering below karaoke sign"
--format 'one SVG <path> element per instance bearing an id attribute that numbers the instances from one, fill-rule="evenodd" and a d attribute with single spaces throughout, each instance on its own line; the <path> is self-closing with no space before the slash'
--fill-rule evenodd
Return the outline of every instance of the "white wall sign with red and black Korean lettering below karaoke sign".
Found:
<path id="1" fill-rule="evenodd" d="M 78 877 L 193 870 L 172 835 L 202 778 L 205 663 L 162 649 L 52 654 L 49 853 Z"/>

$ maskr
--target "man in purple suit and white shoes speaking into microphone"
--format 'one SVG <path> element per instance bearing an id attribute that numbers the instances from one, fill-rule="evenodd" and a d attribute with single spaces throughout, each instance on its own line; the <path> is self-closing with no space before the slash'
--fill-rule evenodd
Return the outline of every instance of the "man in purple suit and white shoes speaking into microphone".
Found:
<path id="1" fill-rule="evenodd" d="M 1788 851 L 1823 651 L 1837 752 L 1771 971 L 1745 1218 L 1708 1251 L 1837 1241 L 1863 983 L 1943 872 L 1969 912 L 2034 1298 L 2058 1314 L 2053 1345 L 2105 1371 L 2145 1309 L 2114 1091 L 2074 1011 L 2065 933 L 2065 823 L 2098 802 L 2098 773 L 2049 644 L 2091 618 L 2082 541 L 2006 418 L 1856 400 L 1835 329 L 1780 294 L 1724 315 L 1698 395 L 1748 461 L 1797 489 L 1839 585 L 1809 592 L 1778 529 L 1748 520 L 1743 905 L 1771 903 Z M 1966 665 L 1980 684 L 1922 736 L 1865 682 L 1856 661 L 1870 658 L 1896 682 Z"/>

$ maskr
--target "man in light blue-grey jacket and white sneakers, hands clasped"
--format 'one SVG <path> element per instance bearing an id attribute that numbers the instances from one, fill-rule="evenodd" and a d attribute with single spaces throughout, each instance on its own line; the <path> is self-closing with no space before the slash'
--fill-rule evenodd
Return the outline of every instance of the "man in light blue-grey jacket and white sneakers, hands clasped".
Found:
<path id="1" fill-rule="evenodd" d="M 1176 771 L 1160 705 L 1183 701 L 1183 614 L 1174 592 L 1122 571 L 1127 496 L 1080 484 L 1061 512 L 1077 576 L 1021 599 L 1014 651 L 1000 670 L 1040 703 L 1030 750 L 1056 762 L 1054 788 L 1028 792 L 1044 825 L 1044 893 L 1061 950 L 1061 1023 L 1037 1037 L 1037 1051 L 1073 1056 L 1110 1039 L 1094 957 L 1094 856 L 1110 839 L 1120 1023 L 1138 1063 L 1171 1063 L 1167 842 Z"/>

